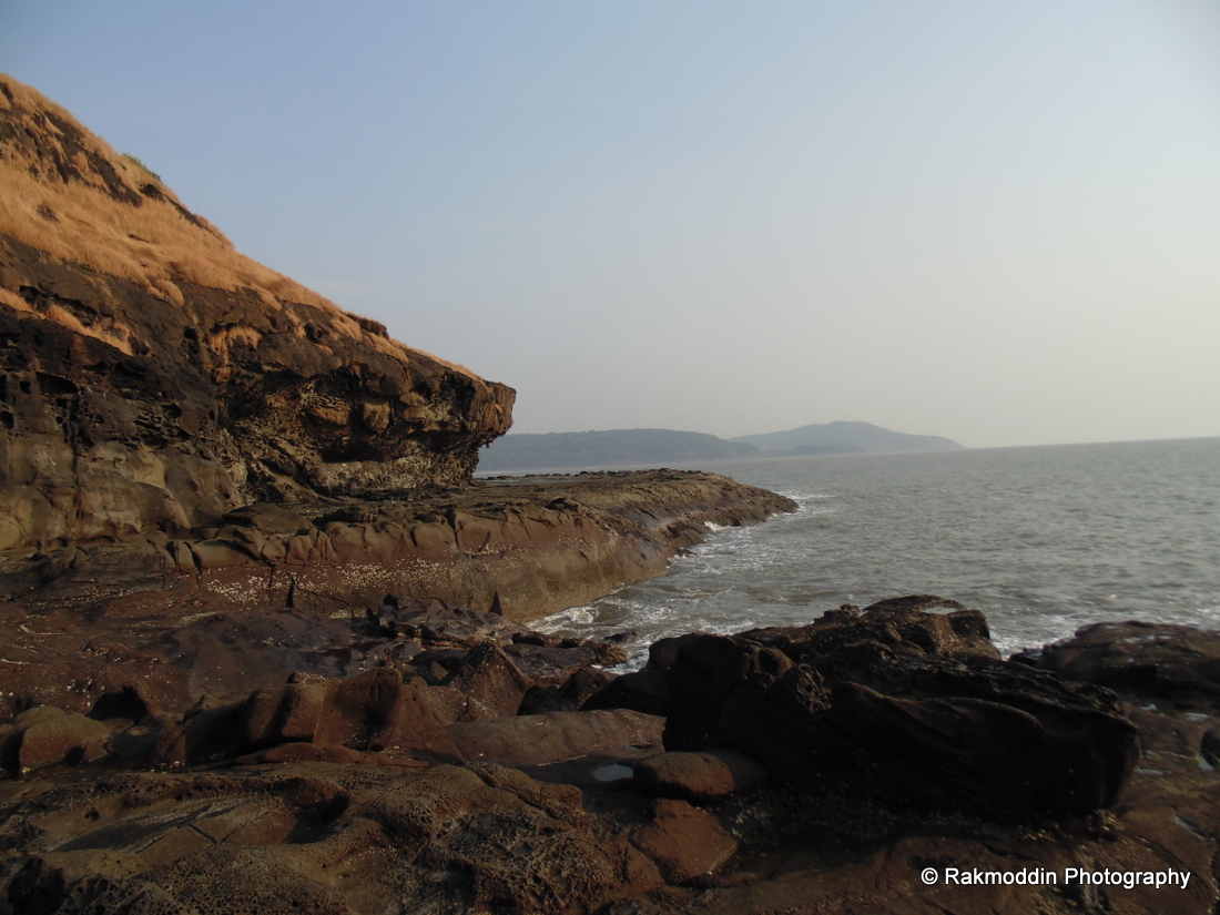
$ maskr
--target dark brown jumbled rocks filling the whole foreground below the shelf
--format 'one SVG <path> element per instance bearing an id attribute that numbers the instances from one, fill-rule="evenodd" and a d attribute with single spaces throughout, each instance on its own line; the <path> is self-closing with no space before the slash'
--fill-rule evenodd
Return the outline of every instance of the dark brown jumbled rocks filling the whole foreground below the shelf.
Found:
<path id="1" fill-rule="evenodd" d="M 1005 661 L 981 614 L 919 595 L 662 639 L 615 675 L 621 639 L 438 600 L 392 597 L 348 625 L 359 672 L 187 709 L 161 704 L 159 677 L 83 711 L 6 692 L 0 911 L 1220 900 L 1215 633 L 1092 626 Z M 1063 878 L 1077 872 L 1103 882 Z"/>

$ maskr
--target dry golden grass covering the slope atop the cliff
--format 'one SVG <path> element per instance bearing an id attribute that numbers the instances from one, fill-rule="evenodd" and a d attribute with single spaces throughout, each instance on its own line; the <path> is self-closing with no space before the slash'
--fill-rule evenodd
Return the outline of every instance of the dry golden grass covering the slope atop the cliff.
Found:
<path id="1" fill-rule="evenodd" d="M 198 283 L 231 292 L 251 289 L 267 307 L 288 315 L 301 337 L 305 336 L 305 321 L 294 314 L 296 310 L 292 304 L 312 305 L 331 316 L 336 329 L 362 339 L 387 355 L 410 357 L 417 354 L 454 371 L 477 377 L 464 366 L 366 331 L 329 299 L 240 254 L 206 220 L 194 214 L 188 217 L 188 211 L 182 207 L 173 192 L 148 168 L 131 156 L 116 152 L 55 102 L 4 74 L 0 74 L 0 87 L 4 89 L 0 92 L 0 117 L 13 116 L 17 106 L 27 112 L 35 112 L 33 118 L 27 120 L 38 133 L 40 144 L 54 145 L 60 139 L 54 124 L 38 116 L 40 112 L 50 112 L 78 127 L 85 138 L 88 151 L 104 159 L 122 183 L 142 198 L 142 204 L 134 206 L 107 193 L 104 177 L 90 170 L 87 156 L 81 152 L 72 156 L 65 154 L 65 159 L 82 171 L 83 178 L 63 182 L 56 174 L 48 177 L 52 170 L 46 167 L 45 161 L 35 161 L 23 150 L 10 145 L 0 149 L 0 200 L 4 201 L 0 207 L 0 233 L 59 260 L 126 279 L 177 305 L 185 300 L 179 283 Z M 11 104 L 9 98 L 12 99 Z M 151 194 L 142 193 L 140 189 L 150 184 L 155 190 Z M 17 307 L 13 299 L 20 300 L 20 296 L 9 290 L 0 301 Z M 51 314 L 43 317 L 72 323 Z M 71 315 L 67 317 L 71 318 Z M 116 329 L 118 333 L 113 333 Z M 117 340 L 122 344 L 121 349 L 129 349 L 123 329 L 87 332 L 92 336 L 109 334 L 113 340 L 107 342 Z"/>

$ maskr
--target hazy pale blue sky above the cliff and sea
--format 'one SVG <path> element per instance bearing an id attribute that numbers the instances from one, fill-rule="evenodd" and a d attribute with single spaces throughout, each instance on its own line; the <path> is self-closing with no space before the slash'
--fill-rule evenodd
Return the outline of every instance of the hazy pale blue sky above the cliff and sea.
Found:
<path id="1" fill-rule="evenodd" d="M 1215 0 L 0 0 L 0 70 L 517 432 L 1220 436 Z"/>

